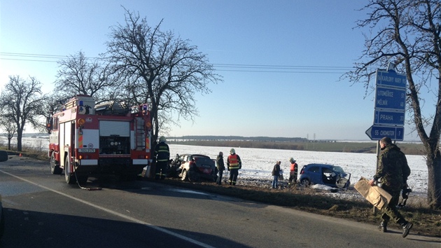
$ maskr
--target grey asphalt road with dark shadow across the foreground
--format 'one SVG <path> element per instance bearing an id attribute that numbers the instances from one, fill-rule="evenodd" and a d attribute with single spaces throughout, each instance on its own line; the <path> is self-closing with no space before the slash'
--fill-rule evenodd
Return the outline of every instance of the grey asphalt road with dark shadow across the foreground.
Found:
<path id="1" fill-rule="evenodd" d="M 441 247 L 376 226 L 188 191 L 154 181 L 90 178 L 90 191 L 48 162 L 0 163 L 6 230 L 0 247 Z M 393 226 L 391 225 L 391 228 Z"/>

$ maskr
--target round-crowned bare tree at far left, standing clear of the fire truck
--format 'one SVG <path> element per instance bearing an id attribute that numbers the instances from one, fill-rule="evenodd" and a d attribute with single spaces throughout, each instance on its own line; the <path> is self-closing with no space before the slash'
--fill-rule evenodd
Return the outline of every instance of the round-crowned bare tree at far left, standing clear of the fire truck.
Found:
<path id="1" fill-rule="evenodd" d="M 34 77 L 29 80 L 20 76 L 9 76 L 9 82 L 1 92 L 0 108 L 3 117 L 12 120 L 17 127 L 17 150 L 22 151 L 22 135 L 29 123 L 33 128 L 41 126 L 43 99 L 41 83 Z"/>

